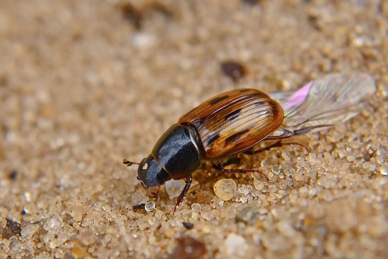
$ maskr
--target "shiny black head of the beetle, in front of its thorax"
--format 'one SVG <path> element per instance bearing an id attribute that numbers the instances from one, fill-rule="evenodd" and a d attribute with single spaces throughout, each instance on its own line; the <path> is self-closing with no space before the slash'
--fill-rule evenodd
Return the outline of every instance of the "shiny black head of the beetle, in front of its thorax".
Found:
<path id="1" fill-rule="evenodd" d="M 170 174 L 149 155 L 140 162 L 137 169 L 137 180 L 139 180 L 144 189 L 148 187 L 163 185 L 166 181 L 171 180 Z"/>

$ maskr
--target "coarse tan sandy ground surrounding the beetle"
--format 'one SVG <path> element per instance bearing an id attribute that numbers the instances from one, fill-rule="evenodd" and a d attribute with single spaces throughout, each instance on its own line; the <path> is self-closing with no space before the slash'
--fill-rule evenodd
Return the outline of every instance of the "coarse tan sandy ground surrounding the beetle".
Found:
<path id="1" fill-rule="evenodd" d="M 388 2 L 0 2 L 3 258 L 387 258 Z M 231 80 L 221 62 L 243 64 Z M 270 176 L 207 169 L 173 216 L 136 167 L 185 112 L 220 92 L 374 76 L 362 114 L 242 157 Z M 223 202 L 213 185 L 230 178 Z M 186 222 L 186 227 L 183 222 Z M 192 223 L 192 228 L 189 229 Z"/>

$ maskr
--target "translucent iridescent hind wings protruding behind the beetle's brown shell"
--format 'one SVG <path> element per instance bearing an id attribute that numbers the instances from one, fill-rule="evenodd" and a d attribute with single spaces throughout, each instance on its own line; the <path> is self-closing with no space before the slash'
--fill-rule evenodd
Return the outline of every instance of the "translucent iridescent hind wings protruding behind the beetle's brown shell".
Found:
<path id="1" fill-rule="evenodd" d="M 294 92 L 270 93 L 283 107 L 284 120 L 265 140 L 312 133 L 347 121 L 360 113 L 363 101 L 375 92 L 370 75 L 330 74 Z"/>

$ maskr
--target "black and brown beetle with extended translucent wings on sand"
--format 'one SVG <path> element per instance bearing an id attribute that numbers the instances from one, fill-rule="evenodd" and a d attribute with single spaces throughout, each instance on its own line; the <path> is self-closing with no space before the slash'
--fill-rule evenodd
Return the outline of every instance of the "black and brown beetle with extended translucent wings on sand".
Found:
<path id="1" fill-rule="evenodd" d="M 238 153 L 255 155 L 297 144 L 281 141 L 347 121 L 360 113 L 364 101 L 375 92 L 376 84 L 370 75 L 341 73 L 311 81 L 296 91 L 267 95 L 252 88 L 231 90 L 180 117 L 140 163 L 126 159 L 123 163 L 139 165 L 137 180 L 145 189 L 158 186 L 156 199 L 166 181 L 185 180 L 175 213 L 190 188 L 192 174 L 201 165 L 210 164 L 222 172 L 261 173 L 224 169 L 222 163 L 236 158 Z M 254 150 L 257 143 L 268 140 L 277 142 Z"/>

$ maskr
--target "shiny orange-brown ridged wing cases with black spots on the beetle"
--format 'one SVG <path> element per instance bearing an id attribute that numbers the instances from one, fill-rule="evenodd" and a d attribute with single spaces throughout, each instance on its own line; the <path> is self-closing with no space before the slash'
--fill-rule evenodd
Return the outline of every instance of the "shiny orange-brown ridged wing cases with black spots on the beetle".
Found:
<path id="1" fill-rule="evenodd" d="M 277 129 L 282 107 L 256 89 L 236 89 L 217 95 L 182 116 L 178 123 L 196 127 L 206 159 L 249 148 Z"/>

